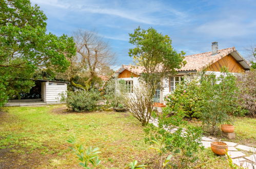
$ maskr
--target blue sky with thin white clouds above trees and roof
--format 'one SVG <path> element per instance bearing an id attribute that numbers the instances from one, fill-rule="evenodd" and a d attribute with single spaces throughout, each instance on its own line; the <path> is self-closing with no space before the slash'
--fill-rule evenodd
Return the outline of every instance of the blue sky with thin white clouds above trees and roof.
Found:
<path id="1" fill-rule="evenodd" d="M 244 57 L 256 45 L 255 0 L 31 0 L 44 11 L 47 31 L 72 36 L 78 29 L 95 31 L 109 43 L 116 61 L 113 69 L 132 64 L 129 33 L 153 27 L 172 39 L 186 55 L 235 47 Z"/>

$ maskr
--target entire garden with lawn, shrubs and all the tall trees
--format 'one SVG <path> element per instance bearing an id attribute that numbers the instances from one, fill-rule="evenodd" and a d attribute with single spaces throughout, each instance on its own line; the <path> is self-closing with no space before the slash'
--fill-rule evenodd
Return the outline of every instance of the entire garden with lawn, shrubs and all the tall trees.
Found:
<path id="1" fill-rule="evenodd" d="M 254 69 L 198 72 L 159 111 L 153 97 L 161 79 L 186 65 L 168 35 L 152 27 L 129 34 L 128 55 L 144 70 L 140 87 L 127 86 L 115 78 L 114 53 L 100 35 L 56 36 L 28 0 L 4 1 L 1 9 L 0 168 L 238 168 L 226 142 L 213 153 L 204 136 L 255 146 Z M 65 104 L 3 107 L 28 93 L 32 79 L 68 82 Z"/>

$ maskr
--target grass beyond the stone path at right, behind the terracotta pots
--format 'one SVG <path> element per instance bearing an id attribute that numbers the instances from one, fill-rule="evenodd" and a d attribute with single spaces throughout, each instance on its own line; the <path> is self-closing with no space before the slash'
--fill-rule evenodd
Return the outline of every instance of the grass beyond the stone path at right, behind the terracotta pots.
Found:
<path id="1" fill-rule="evenodd" d="M 201 121 L 191 120 L 188 125 L 201 126 Z M 256 118 L 249 117 L 234 117 L 235 139 L 224 141 L 232 141 L 248 146 L 256 146 Z M 220 137 L 219 137 L 220 138 Z"/>

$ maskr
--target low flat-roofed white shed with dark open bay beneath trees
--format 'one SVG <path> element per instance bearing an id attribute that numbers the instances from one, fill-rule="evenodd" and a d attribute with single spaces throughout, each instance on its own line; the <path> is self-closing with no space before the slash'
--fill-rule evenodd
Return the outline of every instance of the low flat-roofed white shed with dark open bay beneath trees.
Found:
<path id="1" fill-rule="evenodd" d="M 20 94 L 19 99 L 18 97 L 10 99 L 5 106 L 61 103 L 60 94 L 67 91 L 68 82 L 44 79 L 34 81 L 35 86 L 31 88 L 29 93 Z"/>

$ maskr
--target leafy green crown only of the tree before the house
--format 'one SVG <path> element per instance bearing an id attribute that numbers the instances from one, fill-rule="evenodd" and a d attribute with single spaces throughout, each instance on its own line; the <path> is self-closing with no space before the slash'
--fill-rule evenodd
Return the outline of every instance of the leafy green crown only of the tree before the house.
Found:
<path id="1" fill-rule="evenodd" d="M 158 33 L 155 29 L 148 30 L 140 27 L 130 33 L 129 43 L 135 48 L 129 49 L 129 56 L 137 65 L 145 67 L 146 74 L 175 73 L 175 69 L 185 64 L 184 52 L 176 52 L 172 47 L 172 40 L 168 35 Z"/>

